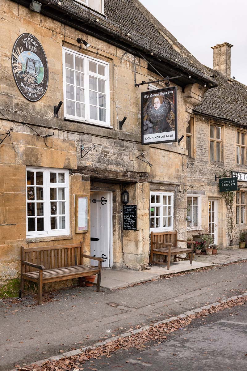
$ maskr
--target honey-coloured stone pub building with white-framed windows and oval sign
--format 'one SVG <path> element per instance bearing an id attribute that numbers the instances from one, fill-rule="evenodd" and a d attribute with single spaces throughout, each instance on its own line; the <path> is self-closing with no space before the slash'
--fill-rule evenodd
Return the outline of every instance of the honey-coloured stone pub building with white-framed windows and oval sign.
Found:
<path id="1" fill-rule="evenodd" d="M 143 269 L 150 229 L 186 237 L 191 179 L 185 138 L 141 145 L 148 84 L 135 83 L 177 76 L 180 138 L 217 85 L 214 72 L 138 1 L 3 0 L 1 21 L 1 296 L 19 289 L 21 246 L 82 240 L 85 253 L 106 257 L 105 267 Z M 124 190 L 137 205 L 136 230 L 123 230 Z M 88 201 L 80 230 L 77 196 Z"/>

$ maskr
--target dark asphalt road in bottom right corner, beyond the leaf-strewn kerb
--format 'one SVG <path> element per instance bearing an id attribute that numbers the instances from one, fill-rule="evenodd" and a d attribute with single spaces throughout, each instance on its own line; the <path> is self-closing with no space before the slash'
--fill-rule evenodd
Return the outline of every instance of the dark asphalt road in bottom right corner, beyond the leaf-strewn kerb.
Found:
<path id="1" fill-rule="evenodd" d="M 162 344 L 131 352 L 128 357 L 119 351 L 110 359 L 94 361 L 93 366 L 85 364 L 84 370 L 246 371 L 247 304 L 193 320 Z"/>

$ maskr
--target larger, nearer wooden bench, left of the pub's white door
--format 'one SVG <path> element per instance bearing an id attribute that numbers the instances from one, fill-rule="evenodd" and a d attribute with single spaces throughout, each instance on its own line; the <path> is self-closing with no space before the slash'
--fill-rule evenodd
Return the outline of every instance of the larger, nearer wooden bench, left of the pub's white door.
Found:
<path id="1" fill-rule="evenodd" d="M 97 267 L 83 265 L 83 258 L 98 260 Z M 56 282 L 72 278 L 80 278 L 80 285 L 84 282 L 93 283 L 100 291 L 101 257 L 83 254 L 83 243 L 73 245 L 21 247 L 21 298 L 23 293 L 29 293 L 38 297 L 38 305 L 42 302 L 42 285 L 47 282 Z M 84 276 L 98 275 L 97 283 L 87 281 Z M 38 284 L 38 294 L 24 290 L 24 280 Z"/>

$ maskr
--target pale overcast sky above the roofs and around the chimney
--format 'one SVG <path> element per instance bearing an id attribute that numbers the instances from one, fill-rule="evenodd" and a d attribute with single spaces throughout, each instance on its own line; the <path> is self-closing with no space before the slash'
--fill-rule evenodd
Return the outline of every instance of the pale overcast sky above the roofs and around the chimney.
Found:
<path id="1" fill-rule="evenodd" d="M 246 0 L 139 0 L 201 63 L 213 68 L 211 46 L 228 42 L 231 77 L 247 85 Z"/>

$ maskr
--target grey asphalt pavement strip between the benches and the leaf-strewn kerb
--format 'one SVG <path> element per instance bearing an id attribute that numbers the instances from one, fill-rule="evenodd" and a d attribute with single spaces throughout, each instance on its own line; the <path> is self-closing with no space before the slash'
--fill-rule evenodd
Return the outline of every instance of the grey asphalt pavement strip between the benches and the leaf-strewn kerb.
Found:
<path id="1" fill-rule="evenodd" d="M 0 370 L 243 293 L 246 267 L 242 262 L 99 293 L 94 288 L 60 290 L 52 302 L 40 306 L 27 299 L 18 304 L 0 301 Z"/>

